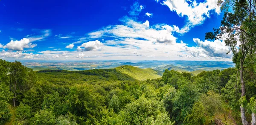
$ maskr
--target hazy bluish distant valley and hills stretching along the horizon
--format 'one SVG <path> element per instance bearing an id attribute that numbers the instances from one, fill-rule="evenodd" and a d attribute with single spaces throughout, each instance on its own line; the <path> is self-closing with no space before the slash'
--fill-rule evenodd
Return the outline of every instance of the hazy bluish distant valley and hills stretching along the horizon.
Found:
<path id="1" fill-rule="evenodd" d="M 38 70 L 68 70 L 68 71 L 80 71 L 80 70 L 93 70 L 93 69 L 122 69 L 121 66 L 126 66 L 128 69 L 122 70 L 122 72 L 134 74 L 131 72 L 137 70 L 137 72 L 149 71 L 149 73 L 157 72 L 154 78 L 161 76 L 161 73 L 168 70 L 177 70 L 179 72 L 188 72 L 193 75 L 197 75 L 202 71 L 211 70 L 223 70 L 229 67 L 234 67 L 233 62 L 228 61 L 84 61 L 84 62 L 35 62 L 24 61 L 24 65 L 32 68 L 34 71 Z M 133 66 L 133 67 L 128 67 Z M 137 67 L 135 69 L 134 67 Z M 150 68 L 150 69 L 148 69 Z M 143 70 L 142 70 L 143 69 Z M 152 75 L 151 75 L 152 76 Z M 145 77 L 146 78 L 146 77 Z"/>

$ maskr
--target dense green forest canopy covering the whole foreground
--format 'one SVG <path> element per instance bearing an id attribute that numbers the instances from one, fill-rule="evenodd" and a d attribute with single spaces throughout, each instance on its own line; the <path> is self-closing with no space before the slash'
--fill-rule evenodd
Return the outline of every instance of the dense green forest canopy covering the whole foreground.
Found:
<path id="1" fill-rule="evenodd" d="M 248 119 L 256 106 L 255 73 L 244 80 L 240 99 L 236 68 L 138 81 L 116 69 L 34 72 L 1 59 L 0 125 L 241 125 L 240 105 Z"/>

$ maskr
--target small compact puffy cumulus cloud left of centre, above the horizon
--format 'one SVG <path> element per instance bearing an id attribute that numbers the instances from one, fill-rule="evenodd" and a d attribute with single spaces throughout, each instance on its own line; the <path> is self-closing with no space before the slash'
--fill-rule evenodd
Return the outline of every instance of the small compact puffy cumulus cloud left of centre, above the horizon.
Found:
<path id="1" fill-rule="evenodd" d="M 89 41 L 89 42 L 84 43 L 81 46 L 77 47 L 77 50 L 78 51 L 80 51 L 80 50 L 84 50 L 84 51 L 99 50 L 99 49 L 102 49 L 102 46 L 103 46 L 103 44 L 98 40 Z"/>

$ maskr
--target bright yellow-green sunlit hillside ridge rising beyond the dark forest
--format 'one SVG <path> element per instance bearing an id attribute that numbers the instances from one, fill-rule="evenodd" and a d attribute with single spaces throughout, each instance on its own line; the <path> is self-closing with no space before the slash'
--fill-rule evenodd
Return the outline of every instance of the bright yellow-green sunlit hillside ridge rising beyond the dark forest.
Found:
<path id="1" fill-rule="evenodd" d="M 124 65 L 121 67 L 116 67 L 116 70 L 120 71 L 121 73 L 127 74 L 137 80 L 146 80 L 148 78 L 160 78 L 163 72 L 153 70 L 153 69 L 140 69 L 138 67 Z"/>

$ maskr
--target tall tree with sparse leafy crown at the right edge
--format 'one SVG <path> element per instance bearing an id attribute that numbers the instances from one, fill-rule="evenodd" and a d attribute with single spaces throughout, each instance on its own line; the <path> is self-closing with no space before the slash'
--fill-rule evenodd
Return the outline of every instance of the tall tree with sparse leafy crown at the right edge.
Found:
<path id="1" fill-rule="evenodd" d="M 234 54 L 233 62 L 240 70 L 241 98 L 244 98 L 244 60 L 253 54 L 256 41 L 256 0 L 218 0 L 218 5 L 224 11 L 221 26 L 214 28 L 214 32 L 207 32 L 206 39 L 223 39 L 231 48 Z M 240 110 L 242 124 L 248 125 L 244 106 L 241 105 Z M 252 113 L 252 125 L 256 125 L 255 118 L 255 113 Z"/>

